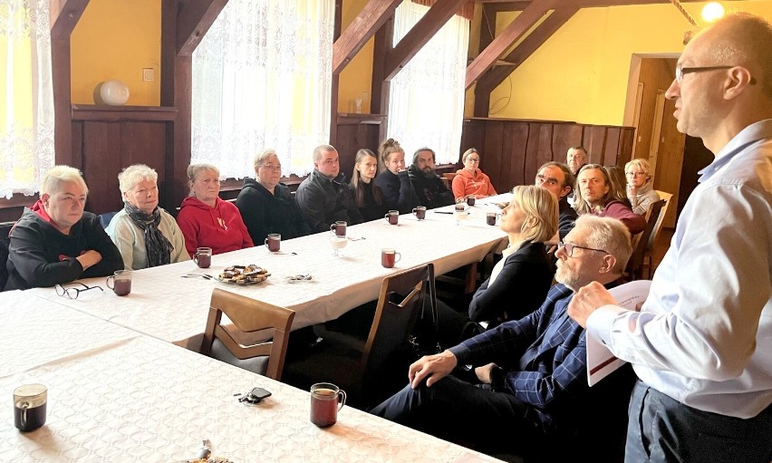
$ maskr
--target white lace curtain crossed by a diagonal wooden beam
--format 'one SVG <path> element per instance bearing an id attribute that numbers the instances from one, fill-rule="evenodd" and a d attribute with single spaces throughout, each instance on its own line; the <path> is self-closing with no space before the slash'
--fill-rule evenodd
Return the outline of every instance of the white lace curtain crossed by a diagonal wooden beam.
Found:
<path id="1" fill-rule="evenodd" d="M 402 2 L 394 14 L 395 45 L 427 11 Z M 454 15 L 391 80 L 388 136 L 408 158 L 428 146 L 439 164 L 458 162 L 468 43 L 468 19 Z"/>

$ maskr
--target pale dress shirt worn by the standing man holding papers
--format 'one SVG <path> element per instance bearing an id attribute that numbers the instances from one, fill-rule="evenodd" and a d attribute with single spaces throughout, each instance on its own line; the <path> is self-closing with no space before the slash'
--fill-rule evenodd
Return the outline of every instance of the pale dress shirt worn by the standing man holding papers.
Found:
<path id="1" fill-rule="evenodd" d="M 747 419 L 772 403 L 772 120 L 700 174 L 641 313 L 606 305 L 588 330 L 657 391 Z"/>

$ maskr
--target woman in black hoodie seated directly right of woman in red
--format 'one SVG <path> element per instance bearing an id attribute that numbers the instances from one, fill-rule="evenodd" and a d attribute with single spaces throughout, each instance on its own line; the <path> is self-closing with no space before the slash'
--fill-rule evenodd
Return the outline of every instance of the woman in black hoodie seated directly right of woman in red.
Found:
<path id="1" fill-rule="evenodd" d="M 255 178 L 244 179 L 244 187 L 236 198 L 236 207 L 252 241 L 259 245 L 269 233 L 278 233 L 282 239 L 311 233 L 311 227 L 308 227 L 290 189 L 279 183 L 282 163 L 276 151 L 260 151 L 253 164 Z"/>

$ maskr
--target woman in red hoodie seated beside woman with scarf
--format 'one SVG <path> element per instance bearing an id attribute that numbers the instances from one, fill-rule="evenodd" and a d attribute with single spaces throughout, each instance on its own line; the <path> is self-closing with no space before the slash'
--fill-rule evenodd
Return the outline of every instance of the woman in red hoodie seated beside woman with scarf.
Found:
<path id="1" fill-rule="evenodd" d="M 177 223 L 188 254 L 211 247 L 212 254 L 255 246 L 236 205 L 219 198 L 220 171 L 210 164 L 188 166 L 190 196 L 182 200 Z"/>

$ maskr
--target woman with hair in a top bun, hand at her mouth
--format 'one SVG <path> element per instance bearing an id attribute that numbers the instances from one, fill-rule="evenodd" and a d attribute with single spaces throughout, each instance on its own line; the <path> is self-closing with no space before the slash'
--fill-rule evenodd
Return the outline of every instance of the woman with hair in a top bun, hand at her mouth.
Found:
<path id="1" fill-rule="evenodd" d="M 419 201 L 405 168 L 405 150 L 398 141 L 389 139 L 381 144 L 380 151 L 383 169 L 375 178 L 375 186 L 383 192 L 384 206 L 399 210 L 400 214 L 410 214 L 413 207 L 419 206 Z"/>

